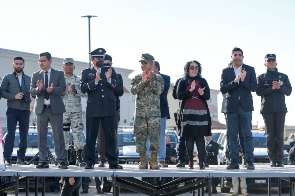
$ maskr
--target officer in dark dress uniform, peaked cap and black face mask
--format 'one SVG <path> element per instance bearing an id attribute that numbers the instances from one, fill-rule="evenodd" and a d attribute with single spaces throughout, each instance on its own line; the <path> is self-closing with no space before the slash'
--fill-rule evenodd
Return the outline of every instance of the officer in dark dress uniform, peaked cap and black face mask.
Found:
<path id="1" fill-rule="evenodd" d="M 113 89 L 119 90 L 121 84 L 114 68 L 103 66 L 105 53 L 103 48 L 90 52 L 93 65 L 81 72 L 80 89 L 82 93 L 87 93 L 85 169 L 94 169 L 96 163 L 94 151 L 100 121 L 104 128 L 109 168 L 123 169 L 117 161 L 114 138 L 116 99 Z"/>

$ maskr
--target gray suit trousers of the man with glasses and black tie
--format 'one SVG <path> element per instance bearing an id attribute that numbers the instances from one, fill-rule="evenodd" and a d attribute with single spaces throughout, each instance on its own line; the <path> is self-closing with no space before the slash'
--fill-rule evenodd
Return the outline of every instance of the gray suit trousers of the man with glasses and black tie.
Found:
<path id="1" fill-rule="evenodd" d="M 51 108 L 44 107 L 41 114 L 36 114 L 38 148 L 40 161 L 49 163 L 47 157 L 47 127 L 51 124 L 54 150 L 57 162 L 65 162 L 65 139 L 63 137 L 63 113 L 53 114 Z"/>

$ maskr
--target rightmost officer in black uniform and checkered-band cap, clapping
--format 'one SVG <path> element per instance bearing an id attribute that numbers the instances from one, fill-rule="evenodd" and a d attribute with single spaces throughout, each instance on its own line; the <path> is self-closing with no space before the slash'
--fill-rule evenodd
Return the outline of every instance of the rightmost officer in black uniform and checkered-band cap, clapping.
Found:
<path id="1" fill-rule="evenodd" d="M 290 80 L 286 74 L 278 72 L 276 55 L 265 57 L 266 73 L 257 77 L 256 94 L 261 96 L 261 110 L 267 133 L 267 151 L 271 161 L 270 167 L 284 167 L 284 125 L 287 107 L 285 95 L 292 91 Z"/>

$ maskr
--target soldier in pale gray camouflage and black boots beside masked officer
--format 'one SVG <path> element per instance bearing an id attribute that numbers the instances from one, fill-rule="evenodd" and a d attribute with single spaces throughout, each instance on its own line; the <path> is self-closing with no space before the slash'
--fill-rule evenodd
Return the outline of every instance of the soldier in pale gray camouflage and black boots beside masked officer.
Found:
<path id="1" fill-rule="evenodd" d="M 77 153 L 76 166 L 85 167 L 86 163 L 82 161 L 83 139 L 82 132 L 84 124 L 82 122 L 81 97 L 86 94 L 80 90 L 80 77 L 73 74 L 75 69 L 74 60 L 65 58 L 63 60 L 63 70 L 65 72 L 65 82 L 67 84 L 65 92 L 62 95 L 66 112 L 63 113 L 63 135 L 65 138 L 65 154 L 68 164 L 68 150 L 70 142 L 70 127 L 73 131 L 73 142 Z"/>

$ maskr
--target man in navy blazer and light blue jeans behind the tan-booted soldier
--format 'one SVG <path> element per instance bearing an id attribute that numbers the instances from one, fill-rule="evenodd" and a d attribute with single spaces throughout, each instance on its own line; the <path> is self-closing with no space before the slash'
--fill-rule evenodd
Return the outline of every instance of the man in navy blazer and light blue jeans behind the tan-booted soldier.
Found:
<path id="1" fill-rule="evenodd" d="M 167 100 L 168 90 L 170 88 L 170 76 L 160 73 L 160 64 L 158 61 L 154 61 L 152 71 L 156 74 L 160 74 L 164 79 L 164 90 L 160 94 L 161 133 L 159 137 L 160 152 L 158 153 L 157 161 L 160 167 L 168 167 L 168 165 L 165 163 L 165 157 L 166 157 L 165 130 L 166 130 L 166 119 L 170 119 L 168 100 Z M 148 162 L 150 162 L 150 151 L 149 151 L 150 138 L 149 137 L 146 142 L 146 147 L 147 147 L 147 152 L 146 152 L 147 159 L 148 159 Z"/>

